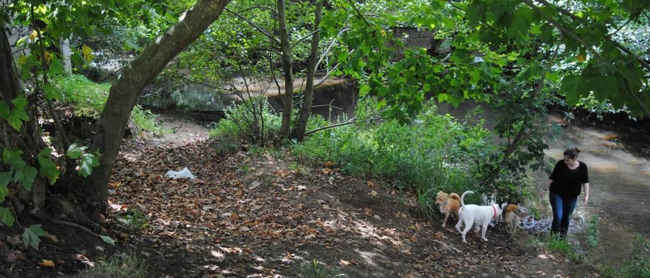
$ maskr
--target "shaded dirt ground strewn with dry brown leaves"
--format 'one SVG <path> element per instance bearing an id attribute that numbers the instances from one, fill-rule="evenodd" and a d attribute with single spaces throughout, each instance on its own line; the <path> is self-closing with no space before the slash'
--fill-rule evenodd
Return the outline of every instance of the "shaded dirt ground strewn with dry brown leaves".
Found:
<path id="1" fill-rule="evenodd" d="M 298 277 L 313 263 L 349 277 L 597 276 L 500 224 L 488 229 L 489 242 L 463 244 L 455 221 L 445 229 L 425 218 L 415 196 L 330 162 L 305 164 L 287 150 L 222 155 L 200 125 L 166 122 L 181 121 L 167 138 L 123 144 L 110 211 L 102 227 L 89 227 L 116 246 L 40 222 L 58 242 L 42 238 L 36 250 L 23 246 L 22 229 L 0 228 L 0 277 L 85 277 L 77 273 L 119 253 L 144 260 L 151 277 Z M 185 167 L 195 179 L 164 177 Z M 146 224 L 134 225 L 136 215 Z M 39 266 L 43 259 L 55 267 Z"/>

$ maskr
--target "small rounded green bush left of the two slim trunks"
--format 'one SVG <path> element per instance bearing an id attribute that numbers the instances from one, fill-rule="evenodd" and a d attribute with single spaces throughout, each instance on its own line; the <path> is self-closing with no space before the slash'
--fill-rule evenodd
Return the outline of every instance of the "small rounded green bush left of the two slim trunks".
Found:
<path id="1" fill-rule="evenodd" d="M 237 145 L 241 142 L 265 143 L 274 138 L 279 130 L 281 116 L 263 97 L 253 97 L 240 105 L 226 109 L 226 119 L 217 123 L 210 131 L 212 138 L 222 144 Z"/>

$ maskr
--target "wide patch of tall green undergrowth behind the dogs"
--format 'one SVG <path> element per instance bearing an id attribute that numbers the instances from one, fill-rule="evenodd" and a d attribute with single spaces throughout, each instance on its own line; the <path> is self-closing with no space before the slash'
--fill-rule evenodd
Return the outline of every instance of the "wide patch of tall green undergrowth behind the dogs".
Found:
<path id="1" fill-rule="evenodd" d="M 375 103 L 370 97 L 360 101 L 357 119 L 373 114 Z M 322 120 L 316 117 L 315 122 Z M 411 125 L 396 120 L 344 125 L 310 134 L 302 144 L 292 145 L 292 151 L 318 162 L 333 161 L 351 175 L 393 179 L 394 186 L 417 192 L 421 208 L 429 213 L 438 190 L 484 192 L 475 175 L 477 162 L 491 149 L 488 134 L 482 121 L 463 125 L 438 114 L 429 102 Z"/>

